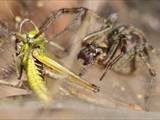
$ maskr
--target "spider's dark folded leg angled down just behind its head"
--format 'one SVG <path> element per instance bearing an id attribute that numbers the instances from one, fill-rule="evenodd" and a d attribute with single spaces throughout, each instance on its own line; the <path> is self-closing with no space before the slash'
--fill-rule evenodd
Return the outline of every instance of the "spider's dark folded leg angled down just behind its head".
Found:
<path id="1" fill-rule="evenodd" d="M 111 70 L 112 67 L 127 53 L 128 36 L 126 31 L 128 31 L 128 26 L 122 25 L 109 33 L 108 51 L 106 51 L 106 57 L 103 61 L 105 69 L 100 77 L 100 80 L 102 80 L 107 71 L 109 69 Z"/>

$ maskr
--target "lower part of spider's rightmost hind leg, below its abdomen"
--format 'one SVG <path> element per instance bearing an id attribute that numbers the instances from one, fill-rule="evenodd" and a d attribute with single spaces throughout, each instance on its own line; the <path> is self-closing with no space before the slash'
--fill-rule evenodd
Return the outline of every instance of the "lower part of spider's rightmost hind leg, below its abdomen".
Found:
<path id="1" fill-rule="evenodd" d="M 151 97 L 151 94 L 152 94 L 151 92 L 152 92 L 152 89 L 153 89 L 153 82 L 155 81 L 156 72 L 155 72 L 154 68 L 152 67 L 152 65 L 150 64 L 150 61 L 149 61 L 150 56 L 149 56 L 146 48 L 143 52 L 139 53 L 139 56 L 143 60 L 145 65 L 147 66 L 149 74 L 152 77 L 151 79 L 149 79 L 147 81 L 146 94 L 145 94 L 145 97 L 144 97 L 145 110 L 149 111 L 150 97 Z"/>

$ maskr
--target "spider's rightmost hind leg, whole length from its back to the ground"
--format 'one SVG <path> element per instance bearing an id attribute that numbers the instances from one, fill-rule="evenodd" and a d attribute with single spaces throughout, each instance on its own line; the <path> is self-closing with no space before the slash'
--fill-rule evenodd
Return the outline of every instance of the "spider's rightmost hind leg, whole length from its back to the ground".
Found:
<path id="1" fill-rule="evenodd" d="M 143 60 L 144 64 L 147 66 L 149 74 L 151 76 L 151 78 L 149 80 L 147 80 L 147 84 L 146 84 L 146 93 L 144 96 L 144 109 L 146 111 L 149 111 L 149 104 L 150 104 L 150 98 L 152 95 L 152 89 L 153 89 L 153 83 L 156 80 L 156 71 L 153 68 L 153 66 L 150 63 L 150 55 L 149 55 L 149 51 L 153 50 L 153 47 L 151 45 L 148 45 L 147 43 L 147 39 L 145 38 L 145 35 L 143 34 L 143 32 L 133 26 L 130 27 L 131 32 L 133 32 L 135 35 L 139 36 L 141 39 L 141 45 L 143 47 L 139 46 L 139 50 L 138 50 L 138 55 L 140 56 L 140 58 Z"/>

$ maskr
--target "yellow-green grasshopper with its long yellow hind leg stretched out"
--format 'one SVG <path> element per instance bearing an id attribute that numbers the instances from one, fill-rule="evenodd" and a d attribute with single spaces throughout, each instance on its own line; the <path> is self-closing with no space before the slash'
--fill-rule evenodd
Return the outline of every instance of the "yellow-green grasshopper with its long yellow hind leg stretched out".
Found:
<path id="1" fill-rule="evenodd" d="M 24 20 L 24 22 L 27 22 L 27 20 Z M 22 22 L 22 24 L 24 24 L 24 22 Z M 60 74 L 68 75 L 68 80 L 86 89 L 95 92 L 99 91 L 99 88 L 94 84 L 91 84 L 81 79 L 79 76 L 71 72 L 69 69 L 65 68 L 55 60 L 47 57 L 44 44 L 46 41 L 45 36 L 44 34 L 40 34 L 37 38 L 35 38 L 39 31 L 35 25 L 34 27 L 35 31 L 30 31 L 27 33 L 22 33 L 20 31 L 15 33 L 15 35 L 16 40 L 18 39 L 19 41 L 19 43 L 17 42 L 16 44 L 17 46 L 20 46 L 17 48 L 20 49 L 18 50 L 18 55 L 21 59 L 21 65 L 23 66 L 22 68 L 26 72 L 30 88 L 41 100 L 50 102 L 52 99 L 49 95 L 49 91 L 47 89 L 43 74 L 42 72 L 40 72 L 40 70 L 42 70 L 43 68 L 40 68 L 40 66 L 37 64 L 43 64 L 45 67 L 48 67 Z"/>

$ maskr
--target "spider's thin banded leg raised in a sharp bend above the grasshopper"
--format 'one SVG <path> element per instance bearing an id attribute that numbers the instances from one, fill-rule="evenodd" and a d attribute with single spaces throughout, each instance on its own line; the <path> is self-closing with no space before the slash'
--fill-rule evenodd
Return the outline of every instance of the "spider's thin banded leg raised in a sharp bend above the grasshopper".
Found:
<path id="1" fill-rule="evenodd" d="M 39 32 L 34 36 L 34 38 L 37 38 L 39 35 L 41 35 L 44 31 L 46 31 L 49 27 L 50 24 L 54 23 L 54 21 L 60 17 L 63 14 L 78 14 L 72 21 L 71 23 L 65 27 L 61 32 L 59 32 L 58 34 L 54 35 L 51 39 L 55 39 L 57 37 L 59 37 L 61 34 L 63 34 L 66 30 L 68 30 L 72 24 L 74 24 L 74 22 L 80 17 L 80 16 L 84 16 L 85 13 L 87 12 L 88 9 L 83 8 L 83 7 L 79 7 L 79 8 L 63 8 L 63 9 L 59 9 L 57 11 L 53 11 L 51 12 L 51 14 L 49 15 L 49 17 L 42 23 L 42 25 L 39 27 Z M 58 48 L 60 51 L 67 53 L 68 54 L 68 49 L 64 48 L 52 41 L 48 42 L 50 45 Z"/>

